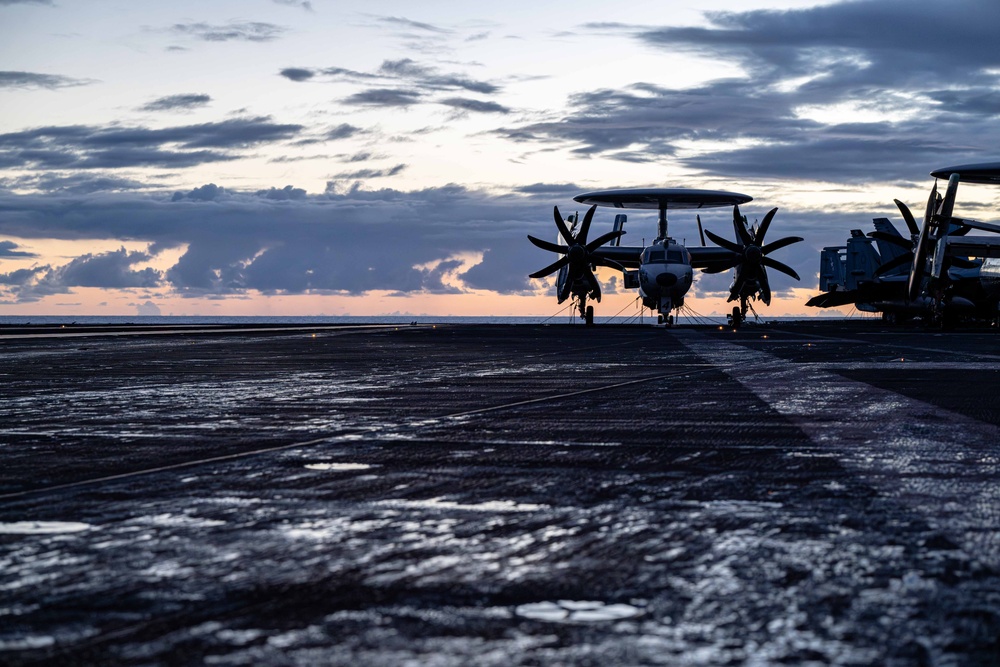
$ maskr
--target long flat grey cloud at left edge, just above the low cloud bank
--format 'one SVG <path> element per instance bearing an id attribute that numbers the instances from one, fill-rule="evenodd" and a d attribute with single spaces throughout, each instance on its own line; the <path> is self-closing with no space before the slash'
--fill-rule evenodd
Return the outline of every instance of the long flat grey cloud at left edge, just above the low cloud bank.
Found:
<path id="1" fill-rule="evenodd" d="M 40 127 L 0 134 L 0 165 L 22 169 L 190 167 L 235 159 L 241 149 L 290 139 L 302 129 L 267 117 L 159 129 Z"/>

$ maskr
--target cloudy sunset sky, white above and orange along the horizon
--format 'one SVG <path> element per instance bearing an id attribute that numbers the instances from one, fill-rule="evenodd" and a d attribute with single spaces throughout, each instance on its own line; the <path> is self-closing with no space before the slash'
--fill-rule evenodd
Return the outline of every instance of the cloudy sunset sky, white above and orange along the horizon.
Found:
<path id="1" fill-rule="evenodd" d="M 0 0 L 0 315 L 553 315 L 526 235 L 622 187 L 778 207 L 802 280 L 760 310 L 817 314 L 824 246 L 1000 160 L 997 34 L 996 0 Z"/>

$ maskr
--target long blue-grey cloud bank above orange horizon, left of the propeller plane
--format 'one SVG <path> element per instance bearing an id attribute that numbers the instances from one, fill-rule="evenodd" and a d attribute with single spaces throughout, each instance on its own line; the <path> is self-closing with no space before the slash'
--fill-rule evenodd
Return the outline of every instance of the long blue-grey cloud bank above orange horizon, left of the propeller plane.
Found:
<path id="1" fill-rule="evenodd" d="M 173 201 L 135 193 L 0 195 L 0 206 L 5 210 L 0 235 L 121 238 L 151 249 L 84 255 L 65 267 L 46 269 L 20 288 L 22 301 L 82 284 L 158 285 L 202 297 L 252 290 L 451 292 L 466 289 L 458 276 L 467 263 L 453 260 L 487 250 L 489 270 L 471 274 L 475 288 L 520 292 L 536 286 L 527 279 L 535 264 L 551 261 L 537 257 L 524 238 L 551 235 L 546 207 L 539 211 L 527 199 L 498 199 L 459 186 L 404 192 L 355 185 L 343 193 L 331 189 L 308 195 L 293 186 L 239 193 L 208 184 Z M 389 252 L 387 244 L 398 248 Z M 162 276 L 136 270 L 144 255 L 166 247 L 185 250 Z"/>

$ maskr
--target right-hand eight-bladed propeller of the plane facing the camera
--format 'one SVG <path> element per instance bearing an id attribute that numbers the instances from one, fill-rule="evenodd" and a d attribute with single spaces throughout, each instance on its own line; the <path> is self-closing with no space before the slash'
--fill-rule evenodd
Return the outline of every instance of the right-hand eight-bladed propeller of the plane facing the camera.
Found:
<path id="1" fill-rule="evenodd" d="M 770 304 L 771 285 L 767 278 L 765 267 L 780 271 L 796 280 L 800 279 L 795 269 L 783 262 L 768 257 L 775 250 L 802 240 L 801 236 L 786 236 L 771 243 L 764 243 L 767 230 L 771 227 L 771 221 L 777 212 L 777 208 L 772 208 L 764 216 L 759 226 L 748 229 L 743 216 L 740 215 L 740 207 L 734 206 L 733 230 L 736 232 L 736 242 L 729 241 L 718 234 L 705 230 L 705 236 L 710 238 L 716 245 L 736 255 L 731 259 L 713 263 L 710 267 L 703 269 L 703 273 L 721 273 L 727 269 L 736 269 L 736 279 L 733 281 L 729 295 L 730 301 L 759 294 L 761 301 L 765 304 Z"/>

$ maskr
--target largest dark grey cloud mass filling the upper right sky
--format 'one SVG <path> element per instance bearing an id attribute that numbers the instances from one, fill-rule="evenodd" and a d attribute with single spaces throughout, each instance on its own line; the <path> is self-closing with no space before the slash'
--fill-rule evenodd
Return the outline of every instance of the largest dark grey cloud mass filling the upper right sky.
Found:
<path id="1" fill-rule="evenodd" d="M 670 158 L 744 179 L 894 182 L 923 178 L 941 161 L 995 157 L 995 2 L 855 0 L 705 18 L 707 27 L 589 27 L 631 35 L 667 64 L 688 52 L 744 76 L 587 91 L 560 118 L 497 134 L 586 157 Z"/>

